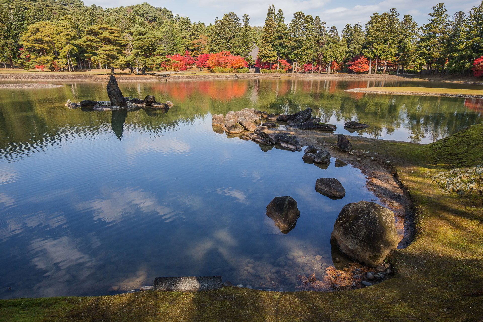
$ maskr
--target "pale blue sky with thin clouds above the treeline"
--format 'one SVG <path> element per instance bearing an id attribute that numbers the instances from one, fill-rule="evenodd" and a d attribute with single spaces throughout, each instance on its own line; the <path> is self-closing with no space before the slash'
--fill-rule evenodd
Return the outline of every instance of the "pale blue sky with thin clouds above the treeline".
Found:
<path id="1" fill-rule="evenodd" d="M 223 14 L 234 12 L 238 16 L 248 14 L 251 18 L 252 26 L 263 26 L 267 8 L 274 3 L 275 9 L 282 8 L 284 11 L 285 22 L 288 23 L 297 11 L 305 14 L 318 15 L 322 21 L 326 21 L 329 26 L 336 26 L 341 30 L 346 23 L 364 24 L 369 16 L 374 12 L 382 13 L 391 8 L 398 9 L 401 14 L 411 14 L 418 24 L 426 23 L 431 7 L 440 0 L 85 0 L 86 5 L 96 4 L 104 8 L 127 6 L 142 2 L 148 2 L 156 7 L 166 7 L 174 14 L 188 16 L 191 21 L 201 21 L 209 24 L 215 17 L 222 17 Z M 473 6 L 477 6 L 481 1 L 475 0 L 447 0 L 443 1 L 450 15 L 456 11 L 468 12 Z"/>

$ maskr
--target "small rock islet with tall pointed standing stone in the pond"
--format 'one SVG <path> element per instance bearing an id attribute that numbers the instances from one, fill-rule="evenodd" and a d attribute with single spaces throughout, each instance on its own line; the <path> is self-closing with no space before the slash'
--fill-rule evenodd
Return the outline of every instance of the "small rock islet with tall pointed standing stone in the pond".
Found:
<path id="1" fill-rule="evenodd" d="M 170 106 L 173 105 L 173 103 L 170 101 L 167 101 L 166 103 L 156 102 L 154 95 L 147 95 L 144 99 L 124 97 L 119 89 L 119 86 L 117 85 L 114 75 L 111 75 L 109 78 L 109 83 L 106 86 L 106 90 L 109 101 L 84 99 L 80 103 L 72 103 L 71 100 L 68 100 L 66 105 L 70 108 L 81 107 L 100 111 L 118 110 L 122 108 L 135 109 L 140 107 L 144 109 L 168 110 Z"/>

